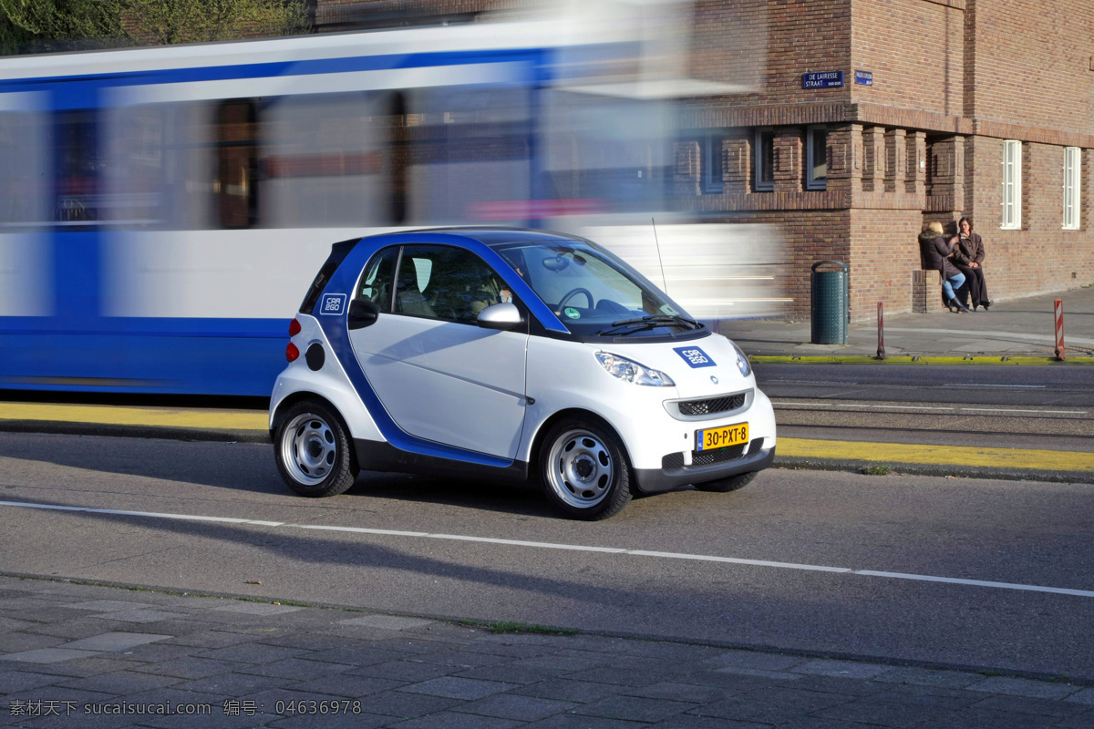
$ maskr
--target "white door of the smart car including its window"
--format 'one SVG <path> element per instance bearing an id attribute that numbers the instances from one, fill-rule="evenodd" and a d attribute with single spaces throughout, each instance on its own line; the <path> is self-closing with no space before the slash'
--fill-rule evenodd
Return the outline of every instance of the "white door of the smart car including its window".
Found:
<path id="1" fill-rule="evenodd" d="M 514 458 L 524 425 L 527 328 L 481 329 L 478 313 L 502 297 L 501 279 L 457 246 L 377 251 L 357 297 L 381 309 L 350 330 L 364 376 L 405 432 Z"/>

